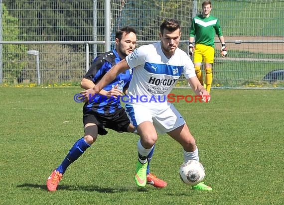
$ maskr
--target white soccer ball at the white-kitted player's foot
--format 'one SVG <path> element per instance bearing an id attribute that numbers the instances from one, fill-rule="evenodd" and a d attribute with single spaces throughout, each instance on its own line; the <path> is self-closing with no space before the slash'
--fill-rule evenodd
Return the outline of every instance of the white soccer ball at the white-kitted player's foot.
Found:
<path id="1" fill-rule="evenodd" d="M 196 160 L 188 160 L 179 168 L 181 181 L 187 185 L 197 185 L 205 177 L 205 171 L 201 163 Z"/>

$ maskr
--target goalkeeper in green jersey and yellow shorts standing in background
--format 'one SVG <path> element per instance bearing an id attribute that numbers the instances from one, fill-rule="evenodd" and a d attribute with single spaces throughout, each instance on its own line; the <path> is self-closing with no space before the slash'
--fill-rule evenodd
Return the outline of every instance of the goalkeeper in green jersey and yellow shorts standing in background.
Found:
<path id="1" fill-rule="evenodd" d="M 195 16 L 192 19 L 190 34 L 189 34 L 189 55 L 194 54 L 193 63 L 195 73 L 201 85 L 204 85 L 206 90 L 210 93 L 212 84 L 212 64 L 214 63 L 215 54 L 215 35 L 217 34 L 221 41 L 221 56 L 227 56 L 227 49 L 224 41 L 222 29 L 218 18 L 210 15 L 212 4 L 210 0 L 205 0 L 202 3 L 202 14 Z M 195 47 L 193 40 L 195 37 Z M 201 72 L 201 63 L 205 63 L 205 84 L 203 83 L 203 76 Z"/>

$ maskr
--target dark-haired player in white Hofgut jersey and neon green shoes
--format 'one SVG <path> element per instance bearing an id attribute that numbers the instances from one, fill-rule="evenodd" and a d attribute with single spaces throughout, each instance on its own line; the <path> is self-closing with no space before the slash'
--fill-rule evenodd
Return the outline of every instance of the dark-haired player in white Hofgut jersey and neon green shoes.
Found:
<path id="1" fill-rule="evenodd" d="M 157 132 L 167 133 L 181 144 L 184 161 L 199 161 L 195 139 L 184 119 L 173 104 L 164 100 L 181 74 L 196 95 L 202 96 L 203 101 L 210 101 L 209 93 L 195 75 L 189 56 L 178 48 L 181 37 L 179 22 L 175 19 L 163 21 L 159 36 L 159 42 L 135 49 L 112 67 L 94 88 L 81 92 L 85 101 L 89 101 L 91 96 L 98 94 L 117 75 L 134 68 L 126 111 L 141 136 L 135 175 L 136 184 L 140 187 L 146 185 L 147 156 L 157 140 Z M 192 189 L 212 191 L 203 182 L 192 186 Z"/>

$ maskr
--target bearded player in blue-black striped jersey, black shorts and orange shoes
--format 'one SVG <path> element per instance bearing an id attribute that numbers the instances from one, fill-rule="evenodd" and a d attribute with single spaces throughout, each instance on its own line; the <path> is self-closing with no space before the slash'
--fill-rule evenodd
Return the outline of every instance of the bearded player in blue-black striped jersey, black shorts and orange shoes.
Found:
<path id="1" fill-rule="evenodd" d="M 118 62 L 130 54 L 136 47 L 136 31 L 131 27 L 124 27 L 116 32 L 116 48 L 95 58 L 89 71 L 81 81 L 83 89 L 93 88 L 100 79 Z M 99 135 L 107 134 L 105 128 L 117 132 L 135 132 L 136 128 L 122 107 L 118 96 L 127 93 L 127 88 L 132 79 L 132 69 L 121 73 L 117 78 L 108 84 L 91 103 L 85 103 L 83 107 L 84 137 L 80 138 L 63 162 L 48 177 L 46 185 L 48 191 L 56 191 L 57 185 L 63 177 L 67 167 L 78 159 L 84 151 L 93 144 Z M 148 156 L 148 163 L 152 158 L 153 150 Z M 158 179 L 147 169 L 147 183 L 154 187 L 162 188 L 167 184 Z"/>

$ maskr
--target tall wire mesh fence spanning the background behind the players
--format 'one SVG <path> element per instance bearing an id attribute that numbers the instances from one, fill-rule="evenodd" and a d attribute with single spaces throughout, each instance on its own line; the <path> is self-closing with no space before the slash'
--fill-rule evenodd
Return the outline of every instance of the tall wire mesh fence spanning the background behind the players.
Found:
<path id="1" fill-rule="evenodd" d="M 213 86 L 282 86 L 284 1 L 211 1 L 211 13 L 220 19 L 228 48 L 228 58 L 220 58 L 216 38 Z M 191 19 L 201 13 L 202 4 L 202 0 L 2 0 L 0 83 L 38 83 L 38 76 L 40 84 L 80 82 L 94 57 L 105 52 L 106 2 L 111 5 L 111 48 L 120 27 L 133 26 L 140 46 L 159 40 L 163 19 L 176 18 L 182 26 L 180 48 L 186 52 Z M 31 50 L 38 51 L 38 58 L 29 54 Z M 269 74 L 275 70 L 277 74 Z M 177 86 L 186 86 L 185 80 Z"/>

